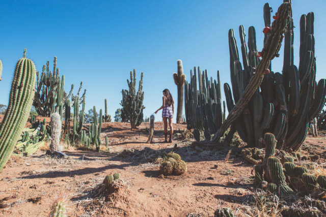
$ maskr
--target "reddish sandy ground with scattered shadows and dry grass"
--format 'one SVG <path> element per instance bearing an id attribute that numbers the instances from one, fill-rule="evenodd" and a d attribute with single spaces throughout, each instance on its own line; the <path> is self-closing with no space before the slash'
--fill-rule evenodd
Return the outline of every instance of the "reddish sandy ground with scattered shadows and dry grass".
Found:
<path id="1" fill-rule="evenodd" d="M 185 125 L 174 124 L 175 140 L 163 143 L 162 127 L 162 122 L 155 122 L 153 143 L 147 144 L 148 122 L 139 130 L 130 130 L 129 123 L 103 123 L 101 138 L 104 143 L 108 137 L 110 152 L 70 148 L 64 151 L 68 159 L 46 157 L 44 150 L 30 157 L 12 157 L 0 173 L 0 216 L 49 215 L 59 193 L 67 197 L 68 216 L 213 216 L 220 207 L 237 213 L 252 194 L 253 165 L 234 154 L 225 160 L 227 147 L 192 148 L 193 140 L 178 134 Z M 175 144 L 188 171 L 180 176 L 160 175 L 159 164 L 148 159 L 155 150 L 170 151 Z M 308 136 L 302 149 L 319 153 L 317 163 L 321 164 L 326 159 L 325 145 L 325 137 Z M 145 148 L 147 153 L 118 157 L 132 148 Z M 105 175 L 115 172 L 121 174 L 118 192 L 106 201 L 95 197 Z"/>

